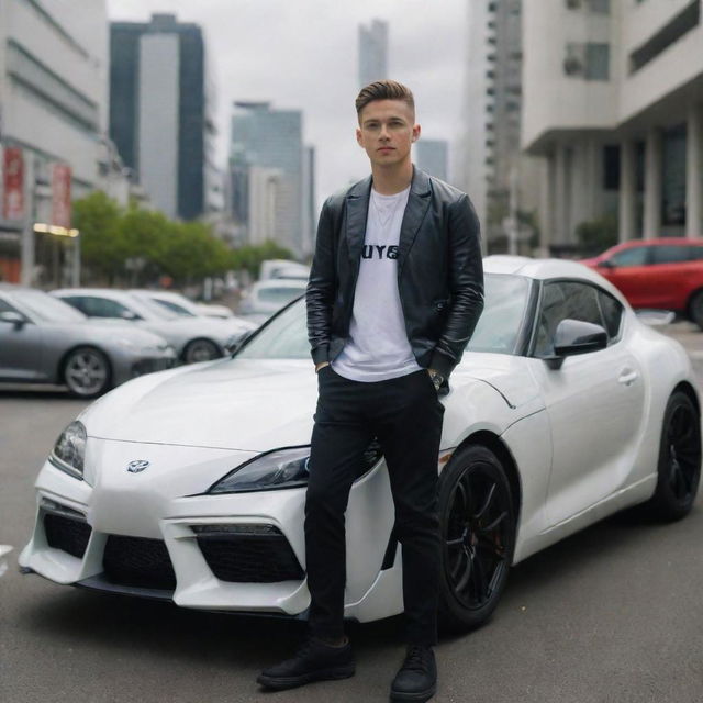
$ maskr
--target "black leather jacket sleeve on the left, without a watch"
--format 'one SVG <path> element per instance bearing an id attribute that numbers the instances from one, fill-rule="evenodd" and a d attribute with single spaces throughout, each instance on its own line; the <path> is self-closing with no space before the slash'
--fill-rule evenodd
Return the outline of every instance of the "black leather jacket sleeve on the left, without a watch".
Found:
<path id="1" fill-rule="evenodd" d="M 317 223 L 315 254 L 305 291 L 308 338 L 315 364 L 330 360 L 330 332 L 335 293 L 334 227 L 330 202 L 325 201 Z"/>

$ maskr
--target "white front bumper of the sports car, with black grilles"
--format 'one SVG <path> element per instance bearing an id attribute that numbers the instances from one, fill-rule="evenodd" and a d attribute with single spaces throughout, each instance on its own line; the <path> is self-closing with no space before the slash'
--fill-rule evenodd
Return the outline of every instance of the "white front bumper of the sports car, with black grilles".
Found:
<path id="1" fill-rule="evenodd" d="M 129 473 L 122 467 L 137 456 L 153 466 Z M 202 490 L 253 456 L 89 438 L 85 481 L 48 461 L 42 468 L 20 567 L 57 583 L 186 607 L 304 615 L 304 489 L 193 494 L 194 483 Z M 402 612 L 400 558 L 382 568 L 392 524 L 379 466 L 349 501 L 347 617 Z"/>

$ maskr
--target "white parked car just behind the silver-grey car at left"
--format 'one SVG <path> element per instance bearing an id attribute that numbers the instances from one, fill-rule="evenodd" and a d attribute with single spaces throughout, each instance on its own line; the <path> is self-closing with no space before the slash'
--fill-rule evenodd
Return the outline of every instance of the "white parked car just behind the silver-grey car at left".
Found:
<path id="1" fill-rule="evenodd" d="M 249 321 L 182 317 L 147 297 L 108 288 L 64 288 L 52 295 L 72 305 L 89 317 L 129 321 L 164 337 L 185 364 L 208 361 L 226 354 L 233 335 L 256 328 Z"/>

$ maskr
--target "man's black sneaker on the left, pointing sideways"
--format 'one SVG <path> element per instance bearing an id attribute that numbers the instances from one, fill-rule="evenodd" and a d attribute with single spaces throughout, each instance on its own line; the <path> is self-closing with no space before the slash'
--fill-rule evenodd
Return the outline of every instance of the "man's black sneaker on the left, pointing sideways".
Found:
<path id="1" fill-rule="evenodd" d="M 316 639 L 309 639 L 292 659 L 264 669 L 256 680 L 267 689 L 282 691 L 311 681 L 348 679 L 354 676 L 352 645 L 333 647 Z"/>

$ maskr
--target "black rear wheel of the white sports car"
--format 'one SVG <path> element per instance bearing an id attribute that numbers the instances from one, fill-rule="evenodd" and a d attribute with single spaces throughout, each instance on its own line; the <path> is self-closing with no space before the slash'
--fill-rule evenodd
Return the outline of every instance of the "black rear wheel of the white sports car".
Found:
<path id="1" fill-rule="evenodd" d="M 672 522 L 689 514 L 701 480 L 701 416 L 693 401 L 674 392 L 663 412 L 657 488 L 646 503 L 652 517 Z"/>

